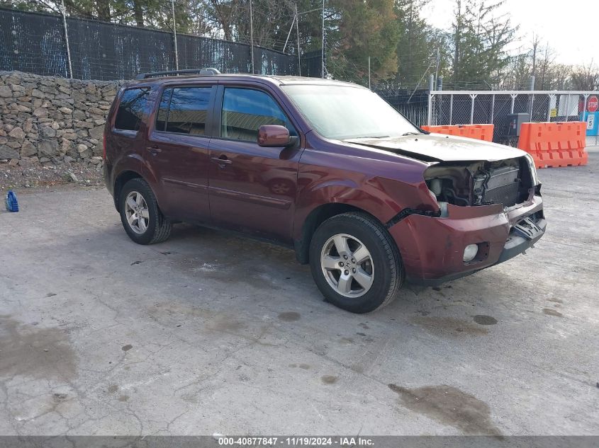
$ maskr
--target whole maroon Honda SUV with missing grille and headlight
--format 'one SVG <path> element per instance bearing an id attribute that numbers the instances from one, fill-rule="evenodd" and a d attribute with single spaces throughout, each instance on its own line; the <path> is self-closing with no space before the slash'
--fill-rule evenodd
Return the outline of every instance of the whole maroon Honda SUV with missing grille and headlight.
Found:
<path id="1" fill-rule="evenodd" d="M 326 299 L 356 313 L 404 280 L 438 285 L 508 260 L 546 226 L 525 152 L 429 134 L 338 81 L 143 74 L 112 105 L 104 159 L 136 243 L 184 221 L 291 246 Z"/>

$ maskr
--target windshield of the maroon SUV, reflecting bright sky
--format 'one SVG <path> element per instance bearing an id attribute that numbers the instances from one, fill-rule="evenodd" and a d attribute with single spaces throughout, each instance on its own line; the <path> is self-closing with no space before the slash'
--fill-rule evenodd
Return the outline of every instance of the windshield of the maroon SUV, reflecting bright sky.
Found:
<path id="1" fill-rule="evenodd" d="M 310 125 L 328 139 L 399 137 L 419 132 L 376 93 L 349 86 L 281 86 Z"/>

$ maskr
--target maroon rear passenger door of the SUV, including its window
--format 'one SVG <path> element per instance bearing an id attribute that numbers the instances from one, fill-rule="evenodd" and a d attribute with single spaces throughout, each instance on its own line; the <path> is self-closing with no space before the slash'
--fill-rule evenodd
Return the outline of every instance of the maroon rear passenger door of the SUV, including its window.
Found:
<path id="1" fill-rule="evenodd" d="M 166 85 L 147 138 L 146 166 L 169 217 L 209 222 L 208 145 L 216 86 Z"/>

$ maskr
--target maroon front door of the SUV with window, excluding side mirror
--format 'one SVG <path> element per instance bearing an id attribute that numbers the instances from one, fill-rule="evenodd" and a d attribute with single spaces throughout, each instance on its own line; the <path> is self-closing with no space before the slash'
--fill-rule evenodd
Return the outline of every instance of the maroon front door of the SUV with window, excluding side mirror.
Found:
<path id="1" fill-rule="evenodd" d="M 291 243 L 301 147 L 263 148 L 257 136 L 262 125 L 283 125 L 291 135 L 296 128 L 266 91 L 219 86 L 219 103 L 220 137 L 210 142 L 213 223 Z"/>

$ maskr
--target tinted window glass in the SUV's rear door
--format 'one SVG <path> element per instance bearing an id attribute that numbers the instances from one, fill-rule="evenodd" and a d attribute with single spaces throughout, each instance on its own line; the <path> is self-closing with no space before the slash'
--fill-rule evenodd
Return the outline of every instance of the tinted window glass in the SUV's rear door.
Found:
<path id="1" fill-rule="evenodd" d="M 156 116 L 156 129 L 178 134 L 205 135 L 212 87 L 167 88 Z"/>

